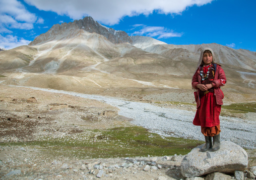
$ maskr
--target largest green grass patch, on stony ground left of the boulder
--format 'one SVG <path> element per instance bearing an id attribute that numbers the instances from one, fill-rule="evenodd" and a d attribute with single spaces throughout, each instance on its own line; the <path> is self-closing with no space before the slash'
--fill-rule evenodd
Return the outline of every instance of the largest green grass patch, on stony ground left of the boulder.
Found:
<path id="1" fill-rule="evenodd" d="M 87 130 L 87 133 L 82 132 L 76 136 L 31 141 L 25 144 L 39 148 L 53 156 L 108 158 L 147 156 L 148 154 L 153 156 L 187 154 L 192 148 L 202 143 L 204 142 L 183 138 L 162 138 L 143 127 L 131 126 L 107 130 Z M 6 143 L 6 145 L 9 144 Z M 24 142 L 15 142 L 11 145 L 24 146 Z"/>

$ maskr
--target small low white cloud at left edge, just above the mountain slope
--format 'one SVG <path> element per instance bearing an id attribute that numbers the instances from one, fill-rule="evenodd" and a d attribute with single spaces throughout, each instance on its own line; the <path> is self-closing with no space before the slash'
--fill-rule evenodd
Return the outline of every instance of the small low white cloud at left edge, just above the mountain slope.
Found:
<path id="1" fill-rule="evenodd" d="M 17 36 L 7 35 L 3 37 L 0 35 L 0 48 L 13 49 L 18 46 L 28 45 L 30 42 Z"/>

